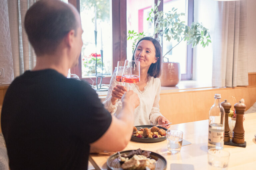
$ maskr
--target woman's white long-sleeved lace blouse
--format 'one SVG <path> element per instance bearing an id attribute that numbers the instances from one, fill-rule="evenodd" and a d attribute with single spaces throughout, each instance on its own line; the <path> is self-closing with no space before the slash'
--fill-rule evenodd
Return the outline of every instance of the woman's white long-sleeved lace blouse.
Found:
<path id="1" fill-rule="evenodd" d="M 112 105 L 111 94 L 113 88 L 118 85 L 123 85 L 123 83 L 115 80 L 115 73 L 112 75 L 110 80 L 110 86 L 108 89 L 108 94 L 103 102 L 104 107 L 114 115 L 118 115 L 121 107 L 117 103 Z M 129 84 L 125 83 L 125 87 L 129 89 Z M 159 110 L 159 100 L 160 100 L 160 91 L 161 83 L 159 78 L 154 78 L 149 76 L 147 85 L 144 87 L 143 91 L 139 90 L 139 87 L 136 84 L 131 83 L 130 90 L 136 92 L 140 99 L 140 105 L 135 109 L 134 112 L 134 126 L 138 125 L 157 125 L 156 118 L 162 116 Z M 118 99 L 120 101 L 120 99 Z"/>

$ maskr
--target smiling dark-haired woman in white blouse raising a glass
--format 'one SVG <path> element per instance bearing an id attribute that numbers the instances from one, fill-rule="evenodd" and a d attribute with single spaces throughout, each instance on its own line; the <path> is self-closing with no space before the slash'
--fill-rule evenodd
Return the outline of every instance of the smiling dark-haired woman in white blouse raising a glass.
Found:
<path id="1" fill-rule="evenodd" d="M 130 84 L 130 90 L 136 92 L 140 98 L 140 105 L 135 109 L 134 125 L 164 125 L 169 121 L 162 116 L 159 110 L 161 83 L 158 78 L 161 74 L 162 49 L 159 42 L 151 37 L 144 37 L 137 43 L 132 60 L 140 61 L 140 81 Z M 127 91 L 128 84 L 115 80 L 115 73 L 110 80 L 110 87 L 105 108 L 118 116 L 120 108 L 116 102 Z M 165 128 L 169 128 L 170 125 Z"/>

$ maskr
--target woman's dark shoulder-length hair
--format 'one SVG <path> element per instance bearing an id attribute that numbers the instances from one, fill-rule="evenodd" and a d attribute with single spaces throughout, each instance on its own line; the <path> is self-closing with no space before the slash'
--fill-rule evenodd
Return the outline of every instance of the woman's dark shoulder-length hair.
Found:
<path id="1" fill-rule="evenodd" d="M 141 42 L 142 40 L 151 41 L 154 44 L 155 49 L 156 49 L 157 61 L 156 61 L 156 63 L 152 63 L 150 65 L 150 67 L 148 69 L 148 75 L 150 75 L 154 78 L 160 77 L 160 75 L 161 75 L 161 61 L 162 61 L 162 48 L 161 48 L 160 43 L 156 39 L 153 39 L 151 37 L 143 37 L 142 39 L 140 39 L 137 42 L 135 50 L 133 51 L 132 60 L 134 60 L 135 51 L 137 49 L 137 46 L 138 46 L 139 42 Z"/>

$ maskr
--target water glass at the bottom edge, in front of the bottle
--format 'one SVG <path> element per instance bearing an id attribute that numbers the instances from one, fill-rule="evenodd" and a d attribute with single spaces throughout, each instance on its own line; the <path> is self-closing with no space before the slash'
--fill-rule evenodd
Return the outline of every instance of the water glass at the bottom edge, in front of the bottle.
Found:
<path id="1" fill-rule="evenodd" d="M 211 148 L 207 154 L 209 170 L 227 170 L 230 155 L 228 151 Z"/>

